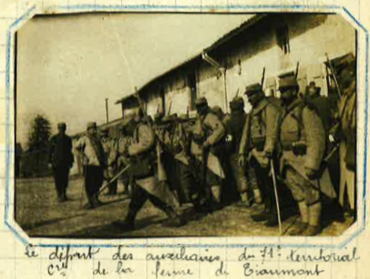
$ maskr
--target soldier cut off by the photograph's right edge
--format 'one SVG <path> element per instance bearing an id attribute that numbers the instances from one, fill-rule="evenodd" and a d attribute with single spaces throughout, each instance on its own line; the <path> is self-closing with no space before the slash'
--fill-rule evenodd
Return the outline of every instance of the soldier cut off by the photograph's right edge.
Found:
<path id="1" fill-rule="evenodd" d="M 339 102 L 337 125 L 331 133 L 333 142 L 339 142 L 340 186 L 339 203 L 344 206 L 344 194 L 347 193 L 350 214 L 355 216 L 355 140 L 356 140 L 356 80 L 355 61 L 349 59 L 338 70 L 343 96 Z"/>

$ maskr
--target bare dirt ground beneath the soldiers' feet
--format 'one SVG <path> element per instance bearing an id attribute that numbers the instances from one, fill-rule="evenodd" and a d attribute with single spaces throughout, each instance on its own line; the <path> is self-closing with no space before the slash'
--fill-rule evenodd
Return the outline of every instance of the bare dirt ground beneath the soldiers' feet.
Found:
<path id="1" fill-rule="evenodd" d="M 188 224 L 180 228 L 165 228 L 161 224 L 166 220 L 166 215 L 147 203 L 139 212 L 137 229 L 123 233 L 115 229 L 112 223 L 124 218 L 129 203 L 126 195 L 118 194 L 115 197 L 101 195 L 101 201 L 105 204 L 94 210 L 86 210 L 81 208 L 81 204 L 86 203 L 86 197 L 80 177 L 70 179 L 67 190 L 69 200 L 66 203 L 57 202 L 51 177 L 18 179 L 15 190 L 15 220 L 30 236 L 124 238 L 279 235 L 277 227 L 268 228 L 252 221 L 250 215 L 259 212 L 262 209 L 261 205 L 242 208 L 233 204 L 213 214 L 198 217 L 194 217 L 195 214 L 188 208 L 183 210 L 183 214 L 190 219 Z M 283 232 L 292 227 L 297 219 L 297 215 L 293 215 L 283 220 Z M 344 223 L 327 224 L 320 235 L 342 234 L 351 222 L 351 218 L 346 218 Z"/>

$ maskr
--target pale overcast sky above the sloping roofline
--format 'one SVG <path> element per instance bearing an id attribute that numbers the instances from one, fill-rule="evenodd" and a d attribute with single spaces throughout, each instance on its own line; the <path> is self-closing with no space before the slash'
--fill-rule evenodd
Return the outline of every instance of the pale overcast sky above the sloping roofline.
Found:
<path id="1" fill-rule="evenodd" d="M 18 35 L 17 141 L 36 114 L 67 134 L 121 116 L 114 103 L 211 45 L 251 15 L 91 14 L 38 17 Z"/>

